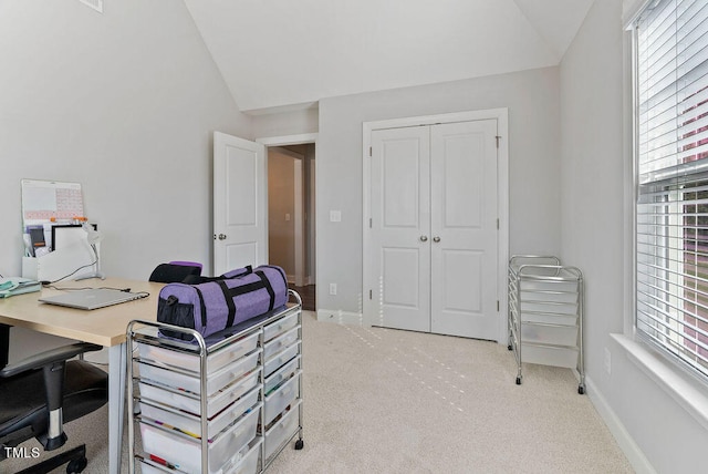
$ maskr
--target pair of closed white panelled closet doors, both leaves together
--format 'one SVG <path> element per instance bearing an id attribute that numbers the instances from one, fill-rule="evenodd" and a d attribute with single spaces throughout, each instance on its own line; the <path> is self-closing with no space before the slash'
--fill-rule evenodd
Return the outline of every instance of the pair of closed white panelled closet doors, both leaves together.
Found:
<path id="1" fill-rule="evenodd" d="M 372 132 L 372 324 L 498 338 L 496 135 L 496 120 Z"/>

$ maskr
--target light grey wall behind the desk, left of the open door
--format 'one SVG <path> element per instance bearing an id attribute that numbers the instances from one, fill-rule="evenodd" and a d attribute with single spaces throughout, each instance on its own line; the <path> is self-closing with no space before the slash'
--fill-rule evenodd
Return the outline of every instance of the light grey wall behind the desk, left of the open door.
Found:
<path id="1" fill-rule="evenodd" d="M 19 275 L 20 179 L 83 185 L 103 269 L 211 267 L 211 136 L 251 137 L 181 1 L 0 2 L 0 274 Z"/>

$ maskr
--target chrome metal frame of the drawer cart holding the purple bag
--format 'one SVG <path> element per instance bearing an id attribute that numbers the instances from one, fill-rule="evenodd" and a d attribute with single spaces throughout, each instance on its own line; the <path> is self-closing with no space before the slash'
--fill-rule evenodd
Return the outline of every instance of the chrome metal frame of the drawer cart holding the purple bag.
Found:
<path id="1" fill-rule="evenodd" d="M 139 415 L 135 414 L 135 402 L 140 400 L 139 394 L 136 394 L 135 392 L 135 381 L 138 379 L 138 377 L 136 377 L 135 372 L 134 372 L 134 362 L 139 361 L 139 356 L 135 356 L 135 351 L 136 351 L 136 347 L 134 347 L 134 342 L 135 341 L 140 341 L 144 343 L 148 343 L 152 346 L 157 346 L 159 348 L 165 348 L 165 349 L 169 349 L 169 350 L 174 350 L 177 352 L 187 352 L 187 353 L 191 353 L 195 356 L 199 357 L 199 387 L 200 387 L 200 393 L 199 393 L 199 402 L 200 402 L 200 406 L 201 406 L 201 430 L 200 430 L 200 443 L 201 443 L 201 472 L 202 473 L 208 473 L 209 472 L 209 436 L 208 436 L 208 416 L 206 415 L 208 413 L 208 399 L 207 399 L 207 357 L 211 353 L 215 353 L 219 350 L 226 349 L 229 344 L 233 343 L 235 341 L 247 337 L 247 336 L 252 336 L 254 332 L 260 332 L 259 336 L 259 346 L 262 348 L 263 347 L 263 327 L 268 326 L 272 322 L 275 322 L 287 316 L 292 315 L 293 312 L 298 312 L 298 324 L 300 326 L 300 329 L 298 331 L 298 336 L 299 336 L 299 340 L 302 340 L 302 299 L 300 297 L 300 295 L 294 291 L 289 289 L 288 290 L 289 296 L 293 297 L 295 300 L 295 303 L 288 303 L 285 309 L 281 309 L 281 310 L 273 310 L 271 312 L 261 315 L 259 317 L 252 318 L 250 320 L 243 321 L 242 323 L 235 326 L 233 328 L 230 328 L 228 331 L 221 331 L 221 332 L 228 332 L 228 334 L 221 334 L 218 336 L 220 338 L 220 340 L 212 342 L 216 338 L 214 337 L 208 337 L 207 340 L 205 340 L 205 338 L 197 331 L 195 331 L 194 329 L 189 329 L 189 328 L 183 328 L 183 327 L 178 327 L 178 326 L 173 326 L 173 324 L 166 324 L 166 323 L 162 323 L 162 322 L 156 322 L 156 321 L 147 321 L 147 320 L 140 320 L 140 319 L 135 319 L 132 320 L 126 329 L 126 350 L 129 357 L 126 358 L 127 360 L 127 377 L 126 377 L 126 385 L 127 385 L 127 408 L 128 408 L 128 414 L 132 418 L 132 420 L 129 420 L 128 422 L 128 472 L 129 474 L 134 474 L 135 471 L 135 464 L 136 461 L 138 463 L 145 463 L 145 464 L 149 464 L 150 466 L 159 470 L 159 471 L 164 471 L 166 473 L 179 473 L 183 471 L 176 471 L 170 468 L 169 466 L 165 466 L 162 465 L 159 463 L 155 463 L 150 460 L 146 460 L 145 457 L 143 457 L 142 455 L 137 454 L 135 452 L 135 422 L 140 422 Z M 145 331 L 146 328 L 152 328 L 152 330 L 148 330 L 147 332 Z M 143 331 L 140 331 L 140 329 L 143 329 Z M 179 333 L 184 333 L 184 334 L 188 334 L 194 338 L 194 340 L 196 341 L 195 343 L 189 343 L 189 342 L 185 342 L 185 341 L 178 341 L 175 339 L 169 339 L 169 338 L 164 338 L 160 337 L 158 334 L 159 330 L 169 330 L 169 331 L 175 331 L 175 332 L 179 332 Z M 217 334 L 215 334 L 217 336 Z M 211 342 L 211 343 L 210 343 Z M 263 354 L 261 352 L 260 354 L 260 361 L 259 361 L 259 370 L 260 370 L 260 396 L 259 396 L 259 404 L 257 406 L 259 406 L 259 410 L 261 411 L 260 413 L 260 420 L 263 420 L 263 401 L 264 401 L 264 393 L 263 393 L 263 382 L 264 382 L 264 378 L 263 378 Z M 302 369 L 302 358 L 300 358 L 300 369 Z M 194 375 L 194 372 L 187 371 L 187 370 L 180 370 L 178 368 L 170 368 L 170 370 L 175 370 L 178 373 L 184 373 L 187 375 Z M 299 377 L 298 379 L 298 390 L 299 390 L 299 399 L 302 400 L 302 377 Z M 270 456 L 270 460 L 266 460 L 266 443 L 261 442 L 260 445 L 260 471 L 258 471 L 259 473 L 263 473 L 269 466 L 270 464 L 278 457 L 278 455 L 282 452 L 282 450 L 285 449 L 285 446 L 288 446 L 288 444 L 290 444 L 290 442 L 292 442 L 292 440 L 298 436 L 298 441 L 295 442 L 295 450 L 302 450 L 304 446 L 304 442 L 302 439 L 302 418 L 303 418 L 303 409 L 302 409 L 302 403 L 298 404 L 298 409 L 299 409 L 299 419 L 298 419 L 298 430 L 293 432 L 293 434 L 288 437 L 288 440 L 285 442 L 282 443 L 281 446 L 279 446 L 279 449 Z M 260 423 L 259 423 L 260 426 Z M 262 426 L 261 429 L 258 430 L 257 436 L 261 436 L 264 439 L 264 426 Z"/>

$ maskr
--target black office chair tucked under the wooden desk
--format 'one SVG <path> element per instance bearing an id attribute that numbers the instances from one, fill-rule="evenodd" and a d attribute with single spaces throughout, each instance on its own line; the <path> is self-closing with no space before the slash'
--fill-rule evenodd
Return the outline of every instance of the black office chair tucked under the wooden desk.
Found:
<path id="1" fill-rule="evenodd" d="M 10 327 L 0 324 L 0 472 L 9 457 L 32 458 L 39 446 L 20 443 L 35 437 L 44 451 L 64 445 L 63 423 L 84 416 L 108 401 L 107 373 L 82 360 L 71 360 L 101 346 L 85 342 L 52 349 L 18 363 L 8 364 Z M 24 449 L 23 449 L 24 447 Z M 86 445 L 82 444 L 21 474 L 48 473 L 67 464 L 67 473 L 86 467 Z"/>

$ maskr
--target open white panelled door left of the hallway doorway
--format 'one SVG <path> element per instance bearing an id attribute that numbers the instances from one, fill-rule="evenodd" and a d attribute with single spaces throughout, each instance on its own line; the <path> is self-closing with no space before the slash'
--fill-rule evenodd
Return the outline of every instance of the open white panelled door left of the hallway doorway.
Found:
<path id="1" fill-rule="evenodd" d="M 268 262 L 266 146 L 214 133 L 214 274 Z"/>

